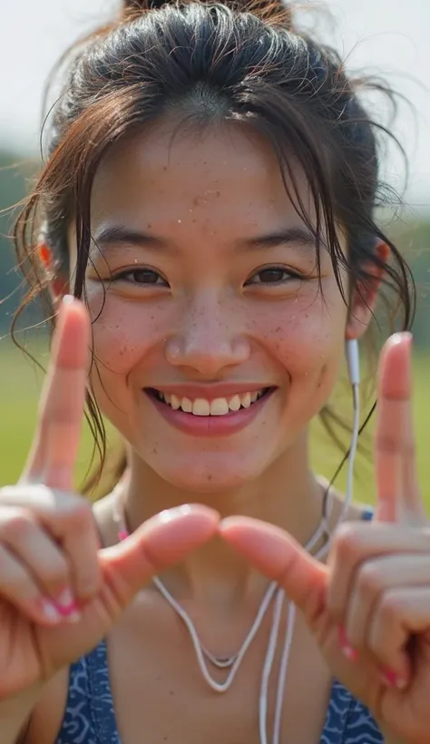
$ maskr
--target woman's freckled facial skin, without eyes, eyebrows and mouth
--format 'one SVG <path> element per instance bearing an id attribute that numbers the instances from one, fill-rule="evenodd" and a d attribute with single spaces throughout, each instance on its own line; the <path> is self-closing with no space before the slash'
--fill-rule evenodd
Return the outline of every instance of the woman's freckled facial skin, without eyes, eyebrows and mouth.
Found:
<path id="1" fill-rule="evenodd" d="M 241 134 L 233 142 L 230 136 L 211 132 L 207 142 L 196 145 L 195 139 L 187 142 L 184 137 L 170 147 L 169 133 L 166 136 L 159 129 L 124 144 L 106 162 L 103 179 L 94 182 L 92 219 L 97 220 L 99 210 L 99 215 L 108 214 L 136 230 L 151 229 L 180 257 L 161 259 L 156 250 L 132 254 L 138 255 L 132 262 L 155 269 L 160 262 L 173 288 L 162 299 L 131 301 L 118 291 L 107 293 L 103 323 L 97 321 L 94 328 L 106 389 L 103 412 L 142 459 L 170 482 L 198 488 L 200 478 L 200 486 L 216 487 L 220 479 L 230 478 L 237 485 L 278 458 L 324 402 L 334 377 L 331 357 L 336 363 L 337 347 L 340 353 L 343 348 L 341 306 L 333 283 L 327 284 L 327 303 L 335 323 L 310 285 L 303 285 L 298 297 L 290 293 L 276 301 L 273 295 L 257 298 L 243 291 L 257 267 L 288 263 L 290 254 L 281 249 L 276 259 L 269 252 L 238 259 L 233 246 L 244 236 L 285 229 L 298 219 L 266 145 Z M 169 164 L 164 162 L 166 152 Z M 197 296 L 211 297 L 210 314 L 209 299 L 197 303 Z M 162 381 L 199 380 L 192 364 L 174 367 L 167 360 L 166 344 L 171 338 L 194 342 L 206 338 L 205 332 L 215 336 L 220 331 L 226 343 L 233 333 L 240 341 L 245 338 L 251 352 L 239 366 L 216 371 L 215 378 L 273 382 L 279 395 L 259 426 L 234 441 L 187 440 L 160 420 L 142 389 Z M 107 372 L 104 363 L 109 363 Z"/>

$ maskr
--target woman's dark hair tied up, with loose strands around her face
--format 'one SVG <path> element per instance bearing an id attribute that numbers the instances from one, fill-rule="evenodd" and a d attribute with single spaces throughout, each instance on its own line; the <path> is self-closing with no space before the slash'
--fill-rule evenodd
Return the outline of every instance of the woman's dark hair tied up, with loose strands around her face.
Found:
<path id="1" fill-rule="evenodd" d="M 129 0 L 120 18 L 64 59 L 67 81 L 54 106 L 47 160 L 15 224 L 18 261 L 30 283 L 24 305 L 40 297 L 54 324 L 49 277 L 39 264 L 37 244 L 42 234 L 54 252 L 56 270 L 65 276 L 72 220 L 78 247 L 73 293 L 84 299 L 94 174 L 113 142 L 174 113 L 180 125 L 200 128 L 234 120 L 266 137 L 277 152 L 296 209 L 315 232 L 318 248 L 325 244 L 331 253 L 345 301 L 341 267 L 363 297 L 375 269 L 383 269 L 387 306 L 393 309 L 395 302 L 400 326 L 410 327 L 415 305 L 410 271 L 375 221 L 387 193 L 379 181 L 377 135 L 389 132 L 372 121 L 358 99 L 364 81 L 348 79 L 332 49 L 298 34 L 290 7 L 264 0 L 254 5 L 242 0 L 235 5 Z M 296 188 L 292 156 L 313 195 L 313 225 Z M 347 233 L 345 254 L 337 223 Z M 380 240 L 390 249 L 386 263 L 376 251 Z M 103 472 L 106 440 L 90 395 L 88 406 L 102 455 L 95 483 Z M 333 423 L 346 425 L 328 408 L 322 416 L 336 438 Z M 122 458 L 114 479 L 124 466 Z"/>

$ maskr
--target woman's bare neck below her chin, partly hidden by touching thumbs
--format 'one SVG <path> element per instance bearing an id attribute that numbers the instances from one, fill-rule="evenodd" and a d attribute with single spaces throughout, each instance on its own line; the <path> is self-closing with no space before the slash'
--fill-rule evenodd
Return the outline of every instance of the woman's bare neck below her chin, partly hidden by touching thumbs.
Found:
<path id="1" fill-rule="evenodd" d="M 280 457 L 251 483 L 221 492 L 177 488 L 132 453 L 129 463 L 121 498 L 131 531 L 154 514 L 187 503 L 207 504 L 217 509 L 221 518 L 241 514 L 276 524 L 301 544 L 308 542 L 321 520 L 323 487 L 309 470 L 305 445 Z M 266 579 L 219 538 L 191 553 L 162 579 L 178 599 L 193 596 L 218 603 L 261 592 L 267 585 Z"/>

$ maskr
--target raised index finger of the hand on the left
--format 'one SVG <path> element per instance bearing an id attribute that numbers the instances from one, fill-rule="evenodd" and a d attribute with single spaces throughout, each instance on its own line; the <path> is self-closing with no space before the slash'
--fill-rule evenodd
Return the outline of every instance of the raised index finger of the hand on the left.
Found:
<path id="1" fill-rule="evenodd" d="M 73 488 L 86 378 L 91 325 L 83 303 L 67 297 L 62 303 L 37 428 L 25 478 L 52 488 Z"/>

